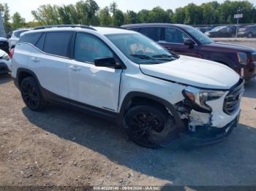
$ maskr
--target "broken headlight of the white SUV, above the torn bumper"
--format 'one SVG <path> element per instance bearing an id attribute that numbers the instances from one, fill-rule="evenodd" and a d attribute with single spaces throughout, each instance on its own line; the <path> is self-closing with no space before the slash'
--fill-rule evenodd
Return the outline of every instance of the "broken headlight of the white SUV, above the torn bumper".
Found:
<path id="1" fill-rule="evenodd" d="M 215 90 L 200 90 L 195 87 L 187 87 L 183 90 L 183 95 L 185 98 L 193 104 L 193 109 L 198 112 L 212 112 L 211 106 L 206 104 L 206 101 L 216 100 L 221 98 L 225 92 L 215 91 Z"/>

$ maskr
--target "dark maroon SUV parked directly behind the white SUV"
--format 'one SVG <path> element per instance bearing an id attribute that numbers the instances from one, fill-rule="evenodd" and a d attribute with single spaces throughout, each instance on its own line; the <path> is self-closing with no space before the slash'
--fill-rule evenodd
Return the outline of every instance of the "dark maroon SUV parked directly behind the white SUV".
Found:
<path id="1" fill-rule="evenodd" d="M 256 76 L 256 50 L 251 47 L 214 42 L 196 28 L 180 24 L 147 23 L 121 27 L 148 36 L 170 52 L 223 63 L 246 81 Z"/>

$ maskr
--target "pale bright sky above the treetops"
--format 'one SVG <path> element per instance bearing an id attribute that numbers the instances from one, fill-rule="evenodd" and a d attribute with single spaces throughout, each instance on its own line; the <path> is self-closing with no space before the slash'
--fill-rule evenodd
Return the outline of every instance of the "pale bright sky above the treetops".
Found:
<path id="1" fill-rule="evenodd" d="M 96 0 L 99 7 L 108 6 L 113 0 Z M 152 9 L 160 6 L 164 9 L 176 9 L 183 7 L 189 3 L 202 4 L 208 0 L 115 0 L 118 4 L 118 9 L 122 11 L 133 10 L 138 12 L 140 9 Z M 212 0 L 214 1 L 214 0 Z M 224 0 L 218 0 L 223 2 Z M 256 6 L 256 0 L 249 0 Z M 7 3 L 10 7 L 11 15 L 14 12 L 19 12 L 26 21 L 33 20 L 31 10 L 37 9 L 42 4 L 75 4 L 76 0 L 1 0 L 1 3 Z"/>

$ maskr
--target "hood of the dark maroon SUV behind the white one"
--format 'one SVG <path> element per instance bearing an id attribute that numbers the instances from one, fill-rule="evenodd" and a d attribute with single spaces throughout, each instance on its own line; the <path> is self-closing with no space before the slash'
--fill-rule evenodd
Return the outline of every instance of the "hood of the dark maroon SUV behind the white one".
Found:
<path id="1" fill-rule="evenodd" d="M 222 50 L 225 49 L 228 52 L 256 52 L 256 50 L 252 47 L 246 47 L 240 44 L 229 44 L 224 42 L 214 42 L 211 44 L 203 44 L 204 47 L 216 47 L 221 48 Z"/>

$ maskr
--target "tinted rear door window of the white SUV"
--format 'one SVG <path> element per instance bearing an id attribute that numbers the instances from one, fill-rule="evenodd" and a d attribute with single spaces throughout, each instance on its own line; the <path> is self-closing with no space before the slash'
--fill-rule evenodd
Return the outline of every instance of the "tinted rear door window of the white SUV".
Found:
<path id="1" fill-rule="evenodd" d="M 71 32 L 48 32 L 45 36 L 44 52 L 51 55 L 68 57 L 68 47 Z"/>

